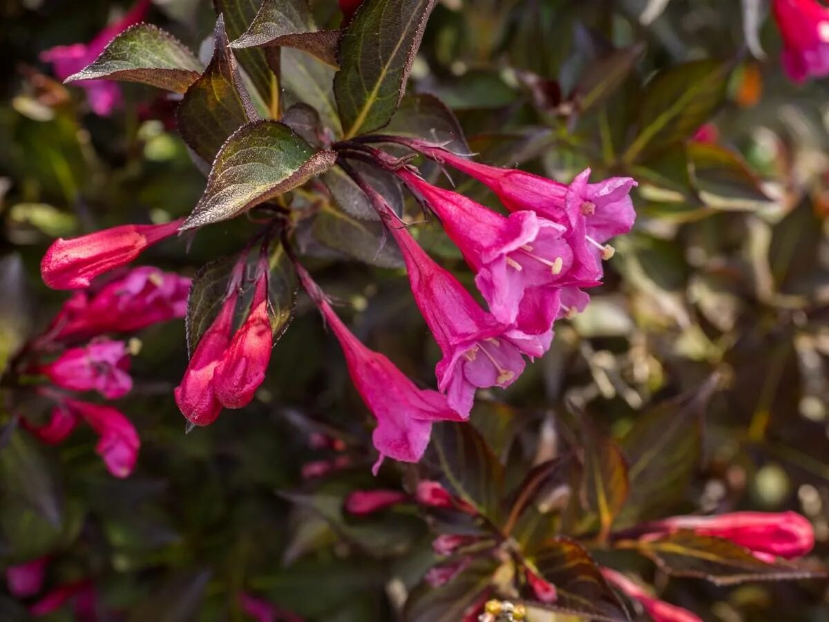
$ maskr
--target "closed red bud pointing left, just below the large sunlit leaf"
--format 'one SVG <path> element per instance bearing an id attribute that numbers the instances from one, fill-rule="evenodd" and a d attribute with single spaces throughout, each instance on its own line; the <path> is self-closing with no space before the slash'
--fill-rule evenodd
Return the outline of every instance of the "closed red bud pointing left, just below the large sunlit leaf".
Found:
<path id="1" fill-rule="evenodd" d="M 89 287 L 96 276 L 128 264 L 149 245 L 175 235 L 182 221 L 121 225 L 72 240 L 58 238 L 41 260 L 43 282 L 52 289 Z"/>

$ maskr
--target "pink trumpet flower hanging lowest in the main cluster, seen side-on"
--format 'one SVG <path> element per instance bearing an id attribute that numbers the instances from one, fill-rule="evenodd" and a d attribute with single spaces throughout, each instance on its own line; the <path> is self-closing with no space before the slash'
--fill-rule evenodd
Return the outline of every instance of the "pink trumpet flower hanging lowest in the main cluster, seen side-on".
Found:
<path id="1" fill-rule="evenodd" d="M 360 343 L 334 313 L 308 272 L 300 265 L 297 271 L 308 295 L 340 342 L 354 387 L 377 420 L 371 435 L 380 452 L 373 469 L 375 474 L 385 456 L 402 462 L 419 461 L 429 445 L 432 422 L 461 417 L 448 406 L 444 396 L 417 388 L 388 358 Z"/>

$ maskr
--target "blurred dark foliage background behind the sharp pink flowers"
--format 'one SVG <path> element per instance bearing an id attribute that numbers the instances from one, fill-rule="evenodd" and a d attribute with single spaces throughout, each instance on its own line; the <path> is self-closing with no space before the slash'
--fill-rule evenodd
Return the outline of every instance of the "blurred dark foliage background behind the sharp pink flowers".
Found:
<path id="1" fill-rule="evenodd" d="M 754 4 L 442 0 L 410 92 L 444 100 L 482 161 L 564 181 L 590 166 L 640 182 L 637 226 L 617 241 L 593 303 L 560 323 L 521 381 L 485 396 L 492 401 L 473 414 L 479 429 L 516 465 L 532 464 L 570 429 L 568 403 L 621 437 L 649 405 L 718 372 L 701 459 L 675 507 L 797 510 L 826 560 L 829 91 L 785 79 L 772 22 L 760 15 L 756 31 L 745 26 Z M 215 19 L 208 5 L 156 0 L 150 21 L 200 50 Z M 126 8 L 0 0 L 0 362 L 65 299 L 38 273 L 53 238 L 184 216 L 203 191 L 169 131 L 165 96 L 122 85 L 124 108 L 101 118 L 38 61 L 51 46 L 89 41 Z M 318 23 L 337 27 L 336 8 L 315 2 Z M 764 60 L 749 52 L 755 39 Z M 303 63 L 284 64 L 295 99 L 308 97 L 308 81 L 291 73 Z M 483 187 L 460 188 L 495 205 Z M 211 226 L 187 252 L 160 245 L 142 263 L 192 275 L 252 227 L 245 218 Z M 462 270 L 437 227 L 422 241 Z M 400 270 L 360 259 L 375 256 L 319 260 L 320 284 L 345 303 L 358 337 L 428 379 L 438 352 Z M 50 583 L 92 576 L 126 620 L 243 620 L 242 590 L 310 620 L 395 620 L 401 595 L 434 562 L 429 529 L 406 509 L 342 514 L 350 490 L 396 488 L 406 469 L 387 465 L 372 479 L 370 417 L 308 300 L 255 403 L 187 435 L 172 400 L 187 364 L 183 322 L 140 337 L 136 386 L 119 402 L 143 441 L 130 479 L 105 472 L 92 435 L 38 447 L 10 423 L 15 409 L 38 406 L 0 406 L 2 560 L 48 554 Z M 342 440 L 341 450 L 312 446 L 319 433 Z M 312 476 L 335 456 L 337 474 Z M 669 589 L 705 620 L 829 620 L 821 582 Z M 0 593 L 0 619 L 26 613 Z"/>

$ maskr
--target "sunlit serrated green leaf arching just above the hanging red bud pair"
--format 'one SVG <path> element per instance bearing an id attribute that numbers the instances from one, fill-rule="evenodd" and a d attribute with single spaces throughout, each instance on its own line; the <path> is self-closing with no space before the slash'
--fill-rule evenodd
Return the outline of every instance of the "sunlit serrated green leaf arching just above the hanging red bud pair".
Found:
<path id="1" fill-rule="evenodd" d="M 182 230 L 233 218 L 331 168 L 337 154 L 318 151 L 279 121 L 236 130 L 216 155 L 207 187 Z"/>

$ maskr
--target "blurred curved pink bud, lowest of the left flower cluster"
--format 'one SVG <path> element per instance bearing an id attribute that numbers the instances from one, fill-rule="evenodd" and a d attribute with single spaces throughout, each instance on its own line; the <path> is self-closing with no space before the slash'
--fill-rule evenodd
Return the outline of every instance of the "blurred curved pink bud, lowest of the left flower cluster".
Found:
<path id="1" fill-rule="evenodd" d="M 132 474 L 141 446 L 132 422 L 112 406 L 79 400 L 66 400 L 65 406 L 99 435 L 95 452 L 104 459 L 109 473 L 117 478 Z"/>

